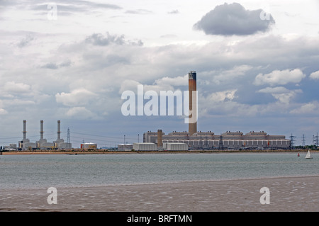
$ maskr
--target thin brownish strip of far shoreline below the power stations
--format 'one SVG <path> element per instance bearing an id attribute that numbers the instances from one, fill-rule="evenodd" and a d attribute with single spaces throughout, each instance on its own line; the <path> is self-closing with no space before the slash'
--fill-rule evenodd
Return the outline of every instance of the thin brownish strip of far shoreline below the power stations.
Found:
<path id="1" fill-rule="evenodd" d="M 190 151 L 109 151 L 109 150 L 96 150 L 96 151 L 9 151 L 0 152 L 0 155 L 7 154 L 213 154 L 213 153 L 303 153 L 307 152 L 306 149 L 296 149 L 296 150 L 190 150 Z M 316 153 L 319 150 L 311 150 L 311 152 Z"/>

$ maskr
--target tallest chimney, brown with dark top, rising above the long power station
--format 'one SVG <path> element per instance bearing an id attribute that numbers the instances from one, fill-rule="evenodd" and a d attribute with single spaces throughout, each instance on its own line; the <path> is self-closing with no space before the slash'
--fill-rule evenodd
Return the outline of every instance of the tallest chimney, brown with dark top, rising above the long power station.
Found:
<path id="1" fill-rule="evenodd" d="M 196 89 L 196 72 L 191 71 L 189 72 L 189 120 L 191 118 L 197 118 L 197 98 L 194 96 L 193 101 L 193 91 L 197 91 Z M 189 123 L 189 135 L 193 135 L 197 132 L 197 121 L 195 123 Z"/>

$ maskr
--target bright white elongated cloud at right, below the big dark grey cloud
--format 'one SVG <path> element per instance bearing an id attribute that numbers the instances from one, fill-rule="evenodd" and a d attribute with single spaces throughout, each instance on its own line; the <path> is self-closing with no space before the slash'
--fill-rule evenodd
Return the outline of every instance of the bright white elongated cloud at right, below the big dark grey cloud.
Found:
<path id="1" fill-rule="evenodd" d="M 257 86 L 264 84 L 274 86 L 289 83 L 299 83 L 305 77 L 306 74 L 303 74 L 301 69 L 286 69 L 283 71 L 275 70 L 269 74 L 258 74 L 254 80 L 254 84 Z"/>

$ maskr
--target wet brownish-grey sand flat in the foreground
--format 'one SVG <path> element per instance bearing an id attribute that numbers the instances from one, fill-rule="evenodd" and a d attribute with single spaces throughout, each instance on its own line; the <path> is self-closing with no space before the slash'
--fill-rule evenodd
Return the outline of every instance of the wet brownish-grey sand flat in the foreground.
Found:
<path id="1" fill-rule="evenodd" d="M 270 203 L 262 205 L 262 187 Z M 1 191 L 1 190 L 0 190 Z M 319 176 L 0 192 L 0 211 L 253 212 L 319 211 Z"/>

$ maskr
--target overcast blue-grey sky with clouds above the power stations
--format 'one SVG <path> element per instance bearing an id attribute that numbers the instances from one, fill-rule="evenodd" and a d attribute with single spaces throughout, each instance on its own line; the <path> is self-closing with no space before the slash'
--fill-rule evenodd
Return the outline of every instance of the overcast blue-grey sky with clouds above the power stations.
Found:
<path id="1" fill-rule="evenodd" d="M 56 9 L 56 13 L 55 13 Z M 56 16 L 56 17 L 55 17 Z M 312 144 L 319 130 L 319 1 L 0 1 L 0 146 L 74 147 L 188 130 L 179 116 L 123 116 L 121 94 L 188 89 L 198 130 L 262 131 Z"/>

